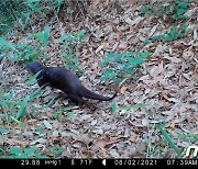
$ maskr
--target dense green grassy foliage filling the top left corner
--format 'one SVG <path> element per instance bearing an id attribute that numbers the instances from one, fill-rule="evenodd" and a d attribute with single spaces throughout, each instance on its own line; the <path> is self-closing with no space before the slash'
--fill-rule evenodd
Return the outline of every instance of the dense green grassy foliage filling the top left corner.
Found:
<path id="1" fill-rule="evenodd" d="M 47 18 L 47 12 L 59 12 L 64 0 L 6 0 L 0 2 L 0 35 L 14 29 L 25 29 L 32 16 Z"/>

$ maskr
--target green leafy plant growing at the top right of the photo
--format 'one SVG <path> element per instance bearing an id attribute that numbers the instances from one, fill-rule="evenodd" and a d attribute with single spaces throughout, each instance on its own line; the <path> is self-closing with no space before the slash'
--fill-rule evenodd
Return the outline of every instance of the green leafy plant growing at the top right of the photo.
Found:
<path id="1" fill-rule="evenodd" d="M 187 19 L 185 13 L 187 12 L 191 2 L 193 0 L 169 0 L 162 5 L 155 5 L 155 3 L 143 5 L 139 10 L 141 14 L 150 14 L 158 18 L 167 15 L 169 21 L 174 21 L 174 25 L 172 25 L 169 32 L 146 38 L 144 41 L 144 45 L 154 41 L 172 42 L 184 37 L 187 31 L 187 25 L 180 25 L 179 21 Z"/>

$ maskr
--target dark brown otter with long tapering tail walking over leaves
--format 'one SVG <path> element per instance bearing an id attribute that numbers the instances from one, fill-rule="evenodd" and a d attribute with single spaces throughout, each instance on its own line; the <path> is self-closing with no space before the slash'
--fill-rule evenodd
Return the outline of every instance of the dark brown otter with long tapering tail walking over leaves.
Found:
<path id="1" fill-rule="evenodd" d="M 116 93 L 113 97 L 109 98 L 91 92 L 81 84 L 78 77 L 73 71 L 64 67 L 45 67 L 37 61 L 32 61 L 26 65 L 26 69 L 32 74 L 41 71 L 37 76 L 37 83 L 40 87 L 47 84 L 59 89 L 64 91 L 69 99 L 80 105 L 85 102 L 82 98 L 110 101 L 117 94 Z"/>

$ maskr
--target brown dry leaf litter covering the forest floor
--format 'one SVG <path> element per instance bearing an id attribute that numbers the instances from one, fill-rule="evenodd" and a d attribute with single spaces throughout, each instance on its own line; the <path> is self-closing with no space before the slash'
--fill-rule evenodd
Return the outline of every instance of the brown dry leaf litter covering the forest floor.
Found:
<path id="1" fill-rule="evenodd" d="M 50 108 L 43 105 L 61 94 L 50 87 L 44 97 L 30 103 L 29 115 L 22 120 L 25 127 L 16 123 L 4 124 L 14 132 L 7 133 L 3 142 L 22 148 L 35 146 L 38 153 L 62 158 L 170 158 L 177 154 L 164 138 L 156 124 L 163 122 L 174 144 L 184 153 L 185 148 L 198 144 L 198 5 L 193 2 L 184 21 L 189 32 L 184 37 L 170 42 L 154 41 L 143 47 L 147 37 L 169 32 L 173 21 L 169 16 L 156 18 L 140 14 L 138 9 L 146 1 L 120 1 L 111 3 L 94 1 L 87 13 L 84 11 L 74 21 L 65 13 L 21 32 L 16 31 L 11 42 L 52 27 L 48 50 L 51 57 L 46 66 L 61 66 L 64 58 L 53 44 L 61 35 L 86 31 L 86 42 L 77 45 L 81 82 L 85 87 L 102 95 L 112 95 L 114 83 L 101 82 L 100 64 L 109 52 L 153 53 L 142 65 L 142 74 L 132 81 L 125 81 L 118 95 L 110 102 L 88 100 L 90 105 L 82 108 L 63 97 Z M 41 59 L 41 58 L 40 58 Z M 41 59 L 42 60 L 42 59 Z M 30 75 L 25 66 L 2 59 L 0 63 L 4 90 L 15 88 L 15 98 L 24 97 L 38 88 L 26 86 Z M 112 112 L 112 102 L 120 108 L 147 104 L 145 109 L 130 109 Z M 34 111 L 32 111 L 34 110 Z M 59 114 L 58 114 L 59 112 Z M 58 117 L 54 117 L 58 114 Z M 62 154 L 53 153 L 51 147 Z"/>

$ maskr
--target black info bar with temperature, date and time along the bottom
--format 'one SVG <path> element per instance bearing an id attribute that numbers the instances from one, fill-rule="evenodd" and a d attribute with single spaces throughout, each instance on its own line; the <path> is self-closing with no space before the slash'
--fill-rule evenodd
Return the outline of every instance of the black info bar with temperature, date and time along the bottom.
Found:
<path id="1" fill-rule="evenodd" d="M 2 167 L 198 167 L 198 159 L 0 159 Z"/>

